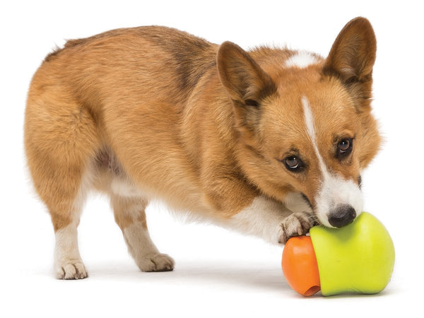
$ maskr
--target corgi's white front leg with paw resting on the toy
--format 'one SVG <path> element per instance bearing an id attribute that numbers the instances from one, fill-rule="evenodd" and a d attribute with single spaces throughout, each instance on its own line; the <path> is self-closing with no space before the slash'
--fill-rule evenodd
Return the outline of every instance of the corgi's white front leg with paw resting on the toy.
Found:
<path id="1" fill-rule="evenodd" d="M 293 213 L 281 202 L 257 196 L 225 223 L 230 228 L 261 237 L 272 244 L 285 244 L 290 237 L 305 235 L 314 225 L 314 218 L 309 211 Z"/>

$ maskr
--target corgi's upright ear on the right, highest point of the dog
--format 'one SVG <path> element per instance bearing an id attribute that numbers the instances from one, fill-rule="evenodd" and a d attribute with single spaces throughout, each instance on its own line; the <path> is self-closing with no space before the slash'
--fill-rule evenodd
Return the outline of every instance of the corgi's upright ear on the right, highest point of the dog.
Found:
<path id="1" fill-rule="evenodd" d="M 370 21 L 355 18 L 338 34 L 324 63 L 324 73 L 338 76 L 354 95 L 368 100 L 376 50 L 377 41 Z"/>

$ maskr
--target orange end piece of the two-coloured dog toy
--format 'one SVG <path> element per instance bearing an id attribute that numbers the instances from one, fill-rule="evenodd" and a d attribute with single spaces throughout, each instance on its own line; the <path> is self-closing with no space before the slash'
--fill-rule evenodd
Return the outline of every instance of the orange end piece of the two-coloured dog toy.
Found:
<path id="1" fill-rule="evenodd" d="M 302 235 L 290 238 L 283 249 L 281 266 L 288 285 L 300 295 L 312 296 L 321 290 L 311 237 Z"/>

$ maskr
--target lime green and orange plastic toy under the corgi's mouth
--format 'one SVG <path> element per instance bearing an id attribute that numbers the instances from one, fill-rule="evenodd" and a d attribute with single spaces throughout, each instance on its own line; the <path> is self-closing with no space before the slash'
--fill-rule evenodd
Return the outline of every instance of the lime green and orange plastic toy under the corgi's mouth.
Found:
<path id="1" fill-rule="evenodd" d="M 363 212 L 343 228 L 310 229 L 292 237 L 281 261 L 288 284 L 300 295 L 375 294 L 389 283 L 394 245 L 384 225 Z"/>

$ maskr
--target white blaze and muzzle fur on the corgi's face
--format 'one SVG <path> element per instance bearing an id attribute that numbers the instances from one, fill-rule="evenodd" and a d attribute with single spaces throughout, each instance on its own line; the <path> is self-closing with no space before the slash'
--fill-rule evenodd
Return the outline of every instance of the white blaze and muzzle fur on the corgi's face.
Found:
<path id="1" fill-rule="evenodd" d="M 363 209 L 363 196 L 358 184 L 355 184 L 352 179 L 345 179 L 343 176 L 329 171 L 319 151 L 314 116 L 305 96 L 302 97 L 302 107 L 307 134 L 310 137 L 322 174 L 318 191 L 314 197 L 315 214 L 322 224 L 333 227 L 329 221 L 331 213 L 336 213 L 336 210 L 341 206 L 351 206 L 355 211 L 355 216 L 359 216 Z"/>

